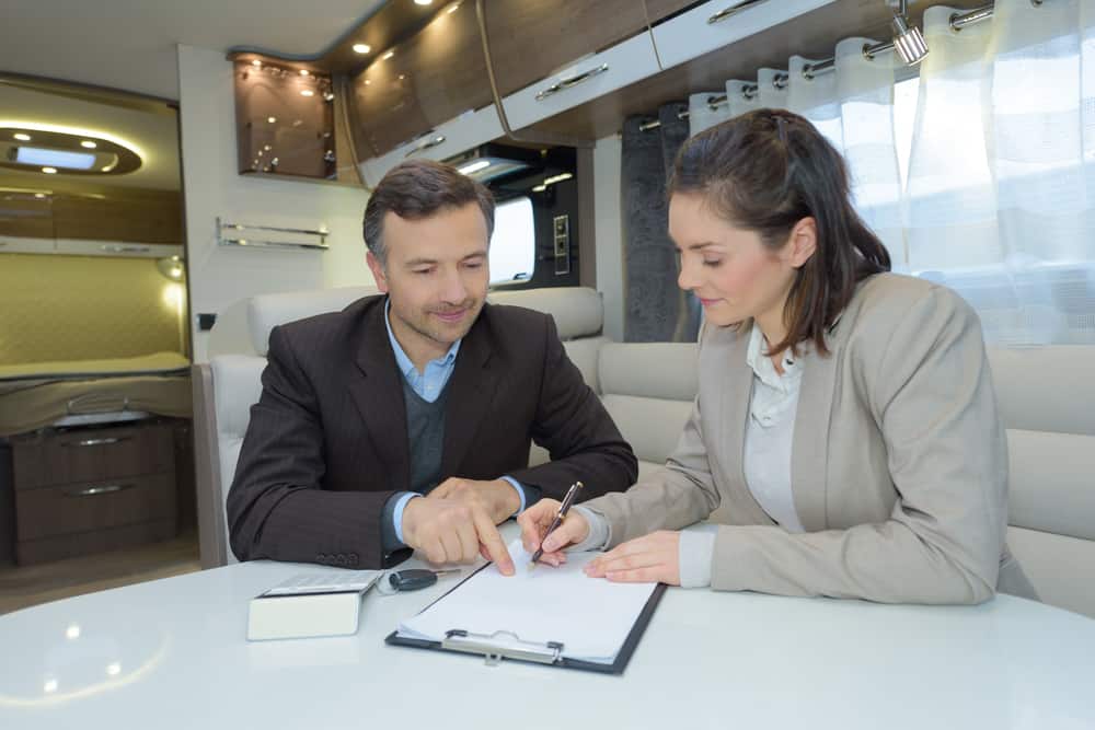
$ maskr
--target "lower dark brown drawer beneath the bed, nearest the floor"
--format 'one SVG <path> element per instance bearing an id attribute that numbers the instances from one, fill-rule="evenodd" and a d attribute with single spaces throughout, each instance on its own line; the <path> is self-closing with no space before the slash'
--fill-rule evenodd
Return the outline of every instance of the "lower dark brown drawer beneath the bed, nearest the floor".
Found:
<path id="1" fill-rule="evenodd" d="M 157 474 L 15 494 L 16 540 L 175 519 L 175 475 Z"/>

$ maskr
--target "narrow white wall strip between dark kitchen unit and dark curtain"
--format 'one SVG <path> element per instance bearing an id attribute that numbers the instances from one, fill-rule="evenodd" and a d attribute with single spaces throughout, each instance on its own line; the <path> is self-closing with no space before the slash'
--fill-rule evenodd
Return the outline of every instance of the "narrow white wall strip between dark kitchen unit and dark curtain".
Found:
<path id="1" fill-rule="evenodd" d="M 623 341 L 623 232 L 620 222 L 619 135 L 597 140 L 593 148 L 595 240 L 597 289 L 604 299 L 604 334 Z"/>

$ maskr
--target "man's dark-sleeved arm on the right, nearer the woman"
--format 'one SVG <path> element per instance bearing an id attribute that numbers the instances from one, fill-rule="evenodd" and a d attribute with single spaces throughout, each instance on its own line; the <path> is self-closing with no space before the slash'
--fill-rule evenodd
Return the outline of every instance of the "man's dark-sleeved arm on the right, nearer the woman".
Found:
<path id="1" fill-rule="evenodd" d="M 550 316 L 544 338 L 543 378 L 532 438 L 549 451 L 552 461 L 516 470 L 508 476 L 554 499 L 562 499 L 576 480 L 585 486 L 583 500 L 623 491 L 638 476 L 638 461 L 631 445 L 581 379 L 581 371 L 566 356 Z"/>

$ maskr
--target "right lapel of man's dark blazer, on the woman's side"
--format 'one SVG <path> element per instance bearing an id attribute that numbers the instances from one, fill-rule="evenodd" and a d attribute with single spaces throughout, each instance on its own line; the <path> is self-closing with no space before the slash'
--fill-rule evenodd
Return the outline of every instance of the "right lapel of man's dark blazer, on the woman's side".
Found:
<path id="1" fill-rule="evenodd" d="M 458 476 L 460 466 L 475 434 L 486 420 L 498 387 L 497 363 L 492 366 L 491 333 L 484 320 L 484 305 L 479 320 L 460 344 L 457 367 L 446 390 L 445 444 L 441 450 L 441 477 Z"/>

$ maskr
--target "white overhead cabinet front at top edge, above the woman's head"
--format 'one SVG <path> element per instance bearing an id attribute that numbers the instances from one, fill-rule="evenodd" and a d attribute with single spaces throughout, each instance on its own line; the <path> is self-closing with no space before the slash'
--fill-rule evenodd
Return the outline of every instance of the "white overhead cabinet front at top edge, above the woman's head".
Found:
<path id="1" fill-rule="evenodd" d="M 711 0 L 654 26 L 661 68 L 698 58 L 835 0 Z"/>

